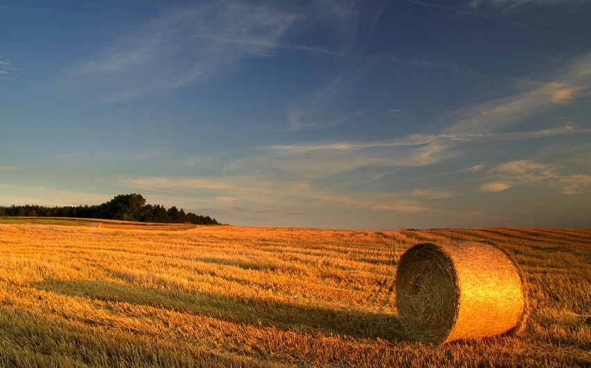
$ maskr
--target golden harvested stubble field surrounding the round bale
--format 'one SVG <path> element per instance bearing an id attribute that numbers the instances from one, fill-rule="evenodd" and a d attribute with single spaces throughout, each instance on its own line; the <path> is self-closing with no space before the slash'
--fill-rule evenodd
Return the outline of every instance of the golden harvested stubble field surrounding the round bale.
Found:
<path id="1" fill-rule="evenodd" d="M 0 367 L 591 366 L 591 229 L 75 225 L 0 224 Z M 404 339 L 398 260 L 450 241 L 517 261 L 522 335 Z"/>

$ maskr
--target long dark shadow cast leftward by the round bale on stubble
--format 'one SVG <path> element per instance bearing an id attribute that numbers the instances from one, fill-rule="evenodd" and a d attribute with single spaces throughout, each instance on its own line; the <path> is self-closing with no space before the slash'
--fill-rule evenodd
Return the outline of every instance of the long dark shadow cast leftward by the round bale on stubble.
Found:
<path id="1" fill-rule="evenodd" d="M 396 315 L 302 306 L 271 299 L 146 289 L 105 281 L 43 281 L 31 285 L 69 296 L 166 308 L 252 326 L 273 326 L 286 331 L 304 328 L 383 340 L 400 340 L 403 336 L 403 328 Z"/>

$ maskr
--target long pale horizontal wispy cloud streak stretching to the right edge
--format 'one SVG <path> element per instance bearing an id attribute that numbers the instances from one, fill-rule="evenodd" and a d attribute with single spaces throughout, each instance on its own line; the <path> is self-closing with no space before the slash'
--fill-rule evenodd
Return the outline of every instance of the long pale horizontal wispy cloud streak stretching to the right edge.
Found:
<path id="1" fill-rule="evenodd" d="M 470 142 L 530 140 L 557 135 L 590 133 L 591 129 L 566 127 L 539 131 L 412 134 L 387 141 L 322 142 L 318 144 L 276 145 L 264 147 L 260 156 L 244 158 L 232 165 L 232 170 L 249 172 L 261 167 L 273 167 L 284 173 L 305 178 L 327 178 L 358 169 L 403 168 L 437 165 L 465 153 L 462 147 Z M 476 167 L 478 171 L 481 167 Z"/>

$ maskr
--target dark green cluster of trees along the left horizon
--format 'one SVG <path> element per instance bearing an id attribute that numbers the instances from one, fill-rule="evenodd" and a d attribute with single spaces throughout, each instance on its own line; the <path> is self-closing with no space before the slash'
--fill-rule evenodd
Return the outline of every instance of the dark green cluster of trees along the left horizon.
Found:
<path id="1" fill-rule="evenodd" d="M 146 204 L 140 194 L 120 194 L 106 203 L 92 206 L 43 207 L 36 205 L 0 206 L 0 216 L 31 217 L 83 217 L 124 221 L 161 222 L 165 224 L 218 225 L 216 219 L 179 210 L 175 206 Z"/>

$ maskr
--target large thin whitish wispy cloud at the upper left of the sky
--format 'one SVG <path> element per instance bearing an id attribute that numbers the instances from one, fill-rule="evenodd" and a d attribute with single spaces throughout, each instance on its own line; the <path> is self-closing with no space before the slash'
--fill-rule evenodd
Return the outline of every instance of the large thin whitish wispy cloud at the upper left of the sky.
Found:
<path id="1" fill-rule="evenodd" d="M 298 44 L 290 37 L 305 32 L 309 22 L 324 20 L 334 28 L 353 22 L 351 8 L 331 4 L 321 1 L 314 9 L 322 11 L 310 10 L 311 19 L 302 17 L 300 9 L 285 10 L 272 2 L 216 1 L 170 8 L 115 40 L 94 60 L 68 70 L 63 82 L 92 83 L 108 101 L 198 83 L 244 58 L 273 56 L 285 48 L 314 49 L 316 45 Z M 322 44 L 318 52 L 330 53 Z"/>

